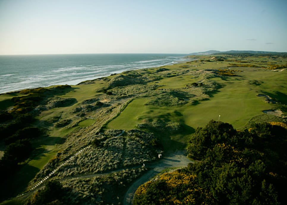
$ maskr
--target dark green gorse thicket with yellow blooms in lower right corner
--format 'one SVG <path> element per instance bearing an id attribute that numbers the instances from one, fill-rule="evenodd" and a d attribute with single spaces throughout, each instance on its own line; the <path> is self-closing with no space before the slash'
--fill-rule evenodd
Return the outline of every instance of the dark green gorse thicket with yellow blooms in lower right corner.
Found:
<path id="1" fill-rule="evenodd" d="M 239 132 L 209 122 L 189 142 L 200 161 L 141 185 L 133 204 L 285 204 L 287 130 L 279 125 Z"/>

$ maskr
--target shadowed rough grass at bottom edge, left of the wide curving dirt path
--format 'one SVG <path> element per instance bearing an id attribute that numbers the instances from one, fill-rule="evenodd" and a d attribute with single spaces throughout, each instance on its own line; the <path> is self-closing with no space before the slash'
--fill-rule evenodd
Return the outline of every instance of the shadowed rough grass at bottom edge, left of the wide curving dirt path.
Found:
<path id="1" fill-rule="evenodd" d="M 145 171 L 145 168 L 133 168 L 107 174 L 105 176 L 65 180 L 59 185 L 60 189 L 53 189 L 54 191 L 58 191 L 57 193 L 47 192 L 46 196 L 50 198 L 45 202 L 51 201 L 51 204 L 84 205 L 122 204 L 127 187 L 135 179 L 144 174 Z M 50 187 L 49 184 L 47 184 L 46 187 L 47 186 Z M 46 191 L 44 190 L 44 192 Z M 37 197 L 39 194 L 41 193 L 36 193 L 36 197 L 32 196 L 30 201 L 33 201 L 34 198 L 39 198 Z M 43 198 L 45 199 L 45 197 Z M 52 202 L 55 198 L 56 200 Z"/>

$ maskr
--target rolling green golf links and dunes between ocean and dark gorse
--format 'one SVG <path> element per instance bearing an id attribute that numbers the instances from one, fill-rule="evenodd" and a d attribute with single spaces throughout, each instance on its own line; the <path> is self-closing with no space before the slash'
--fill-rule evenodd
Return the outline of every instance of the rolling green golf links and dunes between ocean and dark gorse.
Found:
<path id="1" fill-rule="evenodd" d="M 1 94 L 2 204 L 123 203 L 158 154 L 184 150 L 211 120 L 242 131 L 286 122 L 286 69 L 280 55 L 198 56 Z M 61 194 L 50 198 L 53 187 Z"/>

